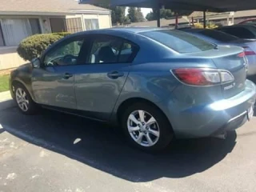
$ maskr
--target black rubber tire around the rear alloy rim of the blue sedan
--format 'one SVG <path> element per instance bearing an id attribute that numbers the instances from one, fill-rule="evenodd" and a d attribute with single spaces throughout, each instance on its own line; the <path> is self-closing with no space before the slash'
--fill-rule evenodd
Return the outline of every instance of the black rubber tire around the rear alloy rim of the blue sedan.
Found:
<path id="1" fill-rule="evenodd" d="M 145 110 L 146 112 L 150 113 L 158 122 L 160 136 L 158 142 L 154 144 L 154 146 L 141 146 L 137 142 L 135 142 L 133 138 L 131 138 L 127 128 L 127 120 L 129 115 L 134 110 Z M 170 122 L 166 119 L 166 116 L 157 107 L 151 106 L 147 103 L 134 103 L 133 105 L 129 106 L 122 114 L 121 124 L 122 130 L 126 135 L 126 139 L 128 140 L 128 142 L 130 142 L 132 146 L 135 146 L 140 150 L 149 152 L 164 150 L 174 138 L 174 132 L 170 126 Z"/>

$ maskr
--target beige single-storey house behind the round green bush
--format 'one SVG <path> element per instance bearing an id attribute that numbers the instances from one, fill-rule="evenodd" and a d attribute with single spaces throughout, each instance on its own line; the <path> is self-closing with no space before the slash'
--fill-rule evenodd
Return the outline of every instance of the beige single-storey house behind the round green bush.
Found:
<path id="1" fill-rule="evenodd" d="M 75 0 L 9 0 L 0 4 L 0 70 L 25 63 L 16 49 L 32 34 L 111 27 L 110 10 Z"/>

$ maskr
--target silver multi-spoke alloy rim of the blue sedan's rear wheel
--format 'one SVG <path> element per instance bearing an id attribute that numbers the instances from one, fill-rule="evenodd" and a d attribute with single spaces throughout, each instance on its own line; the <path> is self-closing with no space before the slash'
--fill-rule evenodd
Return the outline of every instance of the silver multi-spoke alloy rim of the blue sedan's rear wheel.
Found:
<path id="1" fill-rule="evenodd" d="M 127 129 L 140 146 L 154 146 L 160 137 L 158 122 L 145 110 L 135 110 L 129 115 Z"/>

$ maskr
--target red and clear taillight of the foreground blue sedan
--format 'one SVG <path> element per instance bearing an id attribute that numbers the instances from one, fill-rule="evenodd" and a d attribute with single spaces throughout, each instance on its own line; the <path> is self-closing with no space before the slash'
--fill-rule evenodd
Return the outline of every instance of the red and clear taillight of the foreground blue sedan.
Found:
<path id="1" fill-rule="evenodd" d="M 214 86 L 234 81 L 234 76 L 227 70 L 180 68 L 171 72 L 180 82 L 190 86 Z"/>

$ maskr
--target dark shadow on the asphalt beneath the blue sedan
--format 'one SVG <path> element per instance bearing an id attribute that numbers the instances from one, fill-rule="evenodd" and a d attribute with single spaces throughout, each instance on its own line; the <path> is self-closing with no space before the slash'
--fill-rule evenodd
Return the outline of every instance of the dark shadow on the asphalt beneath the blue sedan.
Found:
<path id="1" fill-rule="evenodd" d="M 49 110 L 34 116 L 19 114 L 15 108 L 5 110 L 0 123 L 3 130 L 26 142 L 130 182 L 183 178 L 200 173 L 222 161 L 236 144 L 236 133 L 230 132 L 226 140 L 178 140 L 164 152 L 154 155 L 126 146 L 114 127 Z"/>

